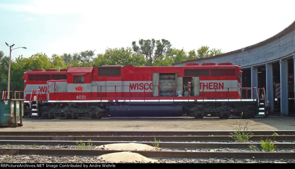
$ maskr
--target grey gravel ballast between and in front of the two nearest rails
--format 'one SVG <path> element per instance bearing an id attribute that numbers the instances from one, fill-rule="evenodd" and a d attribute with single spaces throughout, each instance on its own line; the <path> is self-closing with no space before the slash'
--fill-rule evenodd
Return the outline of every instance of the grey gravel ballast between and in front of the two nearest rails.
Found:
<path id="1" fill-rule="evenodd" d="M 75 145 L 59 145 L 59 146 L 46 146 L 46 145 L 0 145 L 0 148 L 43 148 L 43 149 L 75 149 Z M 93 146 L 91 149 L 96 149 L 96 146 Z M 159 149 L 163 151 L 179 151 L 179 149 Z M 183 150 L 182 150 L 183 151 Z M 196 150 L 187 150 L 184 151 L 263 151 L 261 149 L 249 150 L 249 149 L 231 149 L 231 148 L 219 148 L 219 149 L 196 149 Z M 280 152 L 294 152 L 295 149 L 291 150 L 279 150 Z M 256 160 L 253 159 L 218 159 L 218 158 L 209 158 L 209 159 L 157 159 L 158 161 L 153 163 L 295 163 L 295 160 Z M 45 156 L 45 155 L 1 155 L 0 163 L 110 163 L 104 159 L 98 157 L 82 157 L 82 156 Z M 120 162 L 120 163 L 130 163 L 130 162 Z M 134 161 L 132 163 L 149 163 L 143 161 Z M 151 163 L 151 162 L 150 162 Z"/>

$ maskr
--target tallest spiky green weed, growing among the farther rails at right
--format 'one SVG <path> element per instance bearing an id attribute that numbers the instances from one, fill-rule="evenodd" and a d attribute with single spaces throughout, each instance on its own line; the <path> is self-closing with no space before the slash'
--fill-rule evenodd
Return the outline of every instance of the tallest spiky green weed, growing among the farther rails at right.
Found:
<path id="1" fill-rule="evenodd" d="M 248 132 L 248 128 L 249 128 L 248 122 L 243 128 L 241 127 L 241 121 L 240 121 L 239 128 L 236 128 L 235 132 L 230 132 L 230 135 L 231 135 L 230 137 L 233 138 L 235 142 L 245 143 L 249 140 L 249 138 L 251 138 L 254 135 L 252 132 Z"/>

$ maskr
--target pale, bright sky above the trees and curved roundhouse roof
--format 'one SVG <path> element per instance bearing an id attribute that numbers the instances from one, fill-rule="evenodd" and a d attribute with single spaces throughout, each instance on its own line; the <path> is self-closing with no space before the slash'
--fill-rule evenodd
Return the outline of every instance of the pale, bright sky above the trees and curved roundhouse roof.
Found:
<path id="1" fill-rule="evenodd" d="M 166 39 L 186 52 L 231 52 L 259 43 L 294 20 L 294 0 L 0 0 L 0 51 L 12 59 L 79 53 Z M 27 47 L 27 49 L 18 47 Z"/>

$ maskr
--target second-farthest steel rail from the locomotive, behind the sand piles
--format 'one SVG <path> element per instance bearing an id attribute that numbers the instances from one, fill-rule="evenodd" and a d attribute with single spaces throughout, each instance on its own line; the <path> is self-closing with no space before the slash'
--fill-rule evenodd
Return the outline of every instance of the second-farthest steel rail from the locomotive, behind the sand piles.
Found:
<path id="1" fill-rule="evenodd" d="M 0 140 L 234 142 L 230 136 L 0 136 Z M 295 135 L 253 135 L 249 141 L 293 141 Z"/>

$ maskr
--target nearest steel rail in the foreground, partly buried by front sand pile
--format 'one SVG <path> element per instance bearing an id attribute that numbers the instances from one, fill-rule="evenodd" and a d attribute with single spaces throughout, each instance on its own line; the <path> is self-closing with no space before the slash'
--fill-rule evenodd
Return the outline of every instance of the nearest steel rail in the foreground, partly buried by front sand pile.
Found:
<path id="1" fill-rule="evenodd" d="M 295 152 L 199 152 L 199 151 L 138 151 L 128 150 L 132 153 L 139 153 L 148 158 L 158 159 L 208 159 L 208 158 L 235 158 L 235 159 L 294 159 Z M 99 156 L 109 153 L 124 152 L 124 150 L 76 150 L 76 149 L 0 149 L 1 153 L 14 155 L 57 155 L 57 156 Z"/>

